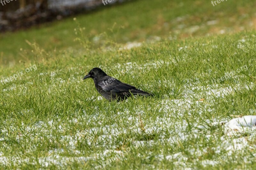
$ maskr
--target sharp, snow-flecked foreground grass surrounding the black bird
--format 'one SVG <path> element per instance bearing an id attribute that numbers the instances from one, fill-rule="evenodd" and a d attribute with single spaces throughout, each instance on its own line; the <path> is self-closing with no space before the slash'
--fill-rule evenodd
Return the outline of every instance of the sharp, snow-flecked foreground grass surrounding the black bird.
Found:
<path id="1" fill-rule="evenodd" d="M 76 55 L 67 51 L 33 62 L 37 70 L 0 87 L 1 159 L 19 155 L 2 167 L 91 169 L 130 147 L 106 168 L 253 169 L 255 137 L 227 137 L 218 123 L 230 115 L 255 114 L 255 35 L 164 40 Z M 212 83 L 244 65 L 248 70 Z M 121 72 L 121 81 L 156 96 L 119 103 L 100 99 L 92 80 L 82 80 L 96 66 L 109 75 Z M 7 78 L 28 67 L 20 64 L 1 74 Z M 229 150 L 237 145 L 234 139 L 247 140 L 246 149 Z M 35 150 L 25 152 L 32 146 Z M 224 154 L 228 157 L 213 165 L 204 163 Z"/>

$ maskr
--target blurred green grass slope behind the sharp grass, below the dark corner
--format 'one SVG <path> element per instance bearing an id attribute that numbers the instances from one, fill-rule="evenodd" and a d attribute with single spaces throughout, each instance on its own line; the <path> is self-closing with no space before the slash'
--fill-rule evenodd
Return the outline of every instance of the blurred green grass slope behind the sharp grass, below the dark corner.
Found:
<path id="1" fill-rule="evenodd" d="M 256 3 L 252 0 L 225 1 L 216 6 L 206 0 L 135 0 L 121 6 L 104 6 L 102 10 L 76 18 L 90 40 L 106 32 L 111 40 L 125 43 L 154 40 L 154 36 L 184 38 L 251 30 L 256 28 L 255 13 Z M 217 22 L 207 24 L 212 20 Z M 74 28 L 76 24 L 70 17 L 24 31 L 0 34 L 0 64 L 31 60 L 31 48 L 25 40 L 35 41 L 50 53 L 54 49 L 80 49 L 81 46 L 73 41 L 76 38 Z M 95 42 L 96 45 L 101 46 L 103 40 Z M 23 54 L 20 48 L 28 54 Z"/>

